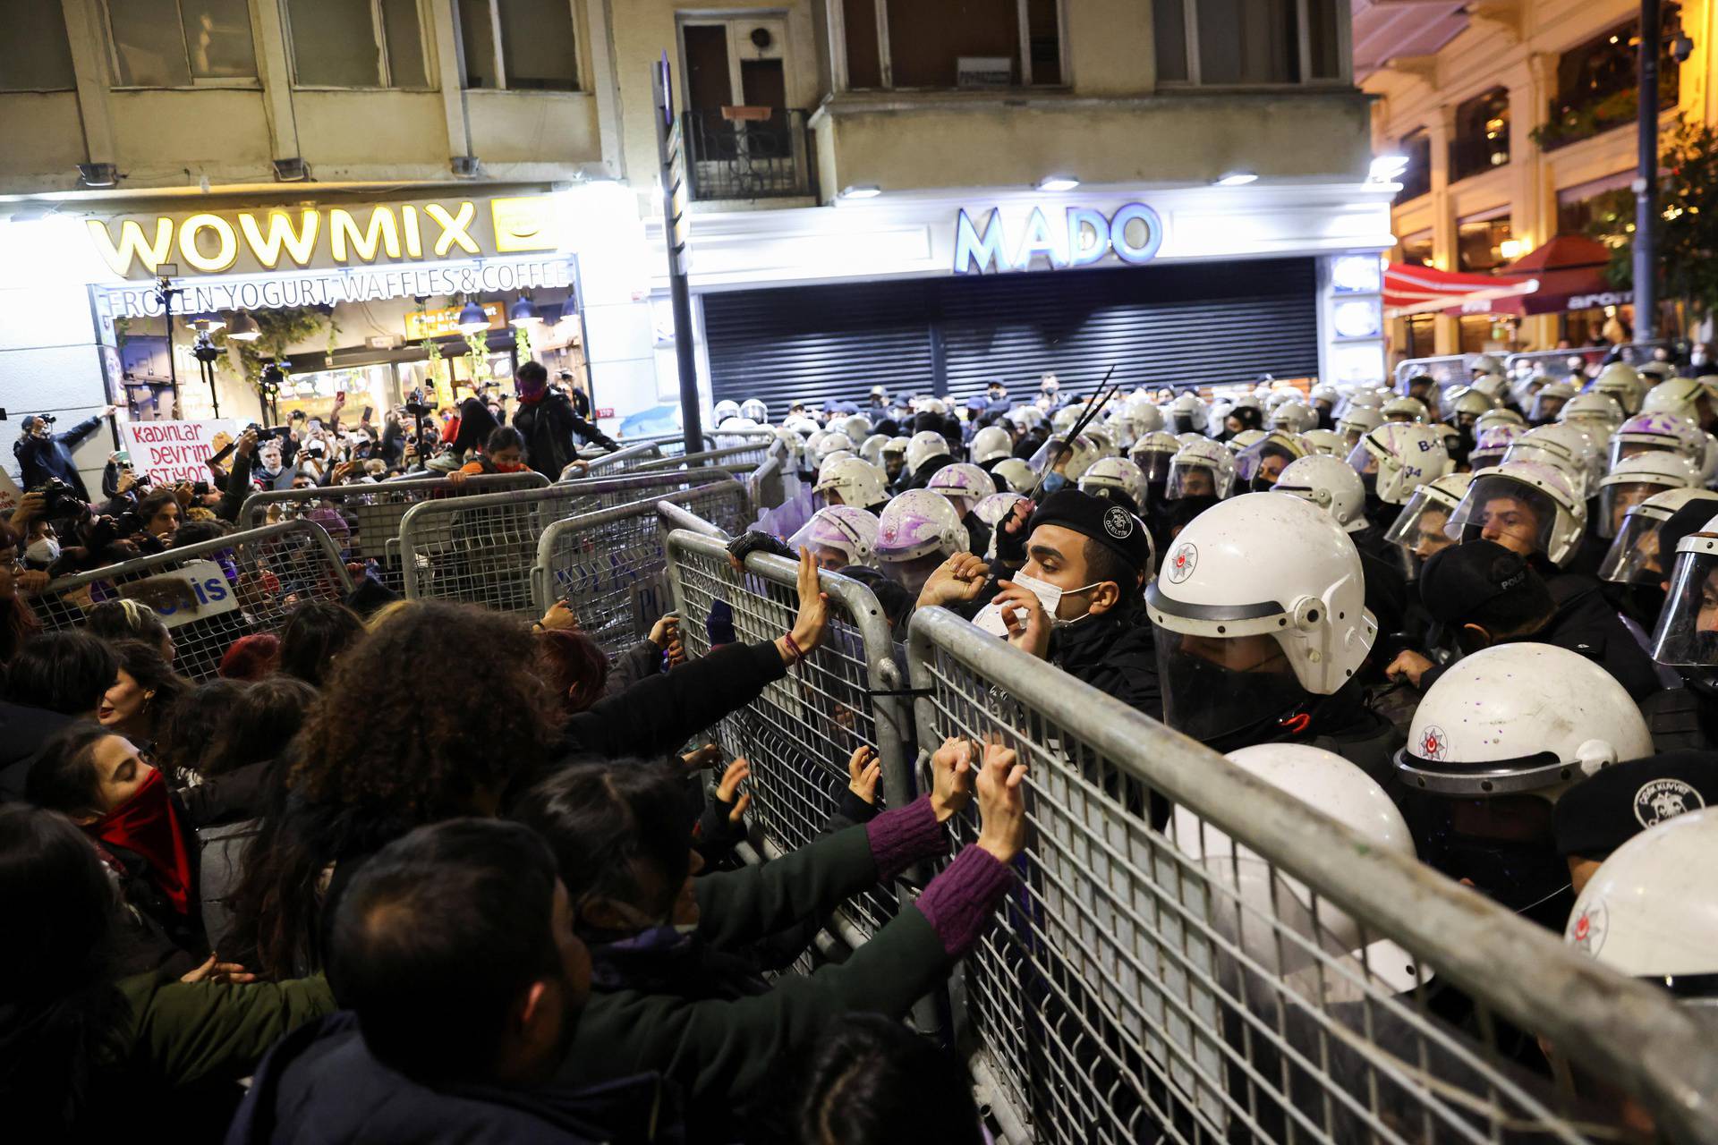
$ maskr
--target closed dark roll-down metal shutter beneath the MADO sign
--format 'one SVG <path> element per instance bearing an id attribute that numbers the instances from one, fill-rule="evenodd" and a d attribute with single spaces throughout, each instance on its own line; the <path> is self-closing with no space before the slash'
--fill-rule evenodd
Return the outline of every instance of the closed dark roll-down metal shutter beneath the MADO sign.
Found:
<path id="1" fill-rule="evenodd" d="M 1002 378 L 1015 398 L 1053 371 L 1089 391 L 1318 374 L 1313 259 L 1124 266 L 704 295 L 716 400 L 964 400 Z"/>

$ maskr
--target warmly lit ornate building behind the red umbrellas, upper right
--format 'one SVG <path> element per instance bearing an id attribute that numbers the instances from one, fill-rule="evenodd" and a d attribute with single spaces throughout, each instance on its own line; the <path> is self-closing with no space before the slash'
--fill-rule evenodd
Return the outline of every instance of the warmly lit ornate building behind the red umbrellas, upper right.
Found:
<path id="1" fill-rule="evenodd" d="M 1660 130 L 1718 122 L 1711 0 L 1663 5 Z M 1519 0 L 1469 5 L 1460 29 L 1421 55 L 1362 62 L 1373 146 L 1407 156 L 1392 206 L 1393 257 L 1486 273 L 1558 235 L 1582 235 L 1636 177 L 1639 3 Z M 1678 39 L 1682 43 L 1678 43 Z M 1419 314 L 1388 323 L 1410 357 L 1591 345 L 1632 295 L 1594 290 L 1574 309 L 1510 318 Z M 1611 326 L 1611 335 L 1618 330 Z M 1615 338 L 1611 338 L 1615 340 Z"/>

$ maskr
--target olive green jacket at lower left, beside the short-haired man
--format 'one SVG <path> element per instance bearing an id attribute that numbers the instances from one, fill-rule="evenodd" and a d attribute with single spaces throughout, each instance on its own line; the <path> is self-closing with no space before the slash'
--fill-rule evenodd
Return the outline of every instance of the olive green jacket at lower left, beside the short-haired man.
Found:
<path id="1" fill-rule="evenodd" d="M 137 975 L 113 989 L 122 1004 L 94 1047 L 94 1064 L 149 1088 L 235 1081 L 287 1030 L 337 1009 L 321 977 L 227 985 Z"/>

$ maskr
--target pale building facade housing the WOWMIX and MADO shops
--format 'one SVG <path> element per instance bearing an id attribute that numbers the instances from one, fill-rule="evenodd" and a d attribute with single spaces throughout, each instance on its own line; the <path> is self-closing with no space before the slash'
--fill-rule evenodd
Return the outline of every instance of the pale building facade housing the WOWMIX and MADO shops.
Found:
<path id="1" fill-rule="evenodd" d="M 521 355 L 570 369 L 610 431 L 672 417 L 663 60 L 710 400 L 1383 371 L 1390 185 L 1340 0 L 0 15 L 33 46 L 0 60 L 0 446 L 24 412 L 107 402 L 447 402 Z M 261 342 L 227 336 L 253 321 Z"/>

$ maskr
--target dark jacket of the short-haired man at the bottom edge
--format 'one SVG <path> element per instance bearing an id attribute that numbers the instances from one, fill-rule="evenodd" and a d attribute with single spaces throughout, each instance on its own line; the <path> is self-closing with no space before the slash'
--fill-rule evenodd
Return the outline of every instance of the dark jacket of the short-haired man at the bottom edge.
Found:
<path id="1" fill-rule="evenodd" d="M 655 1076 L 588 1088 L 431 1088 L 376 1061 L 342 1011 L 268 1051 L 227 1130 L 227 1145 L 263 1142 L 679 1142 L 672 1095 Z"/>

